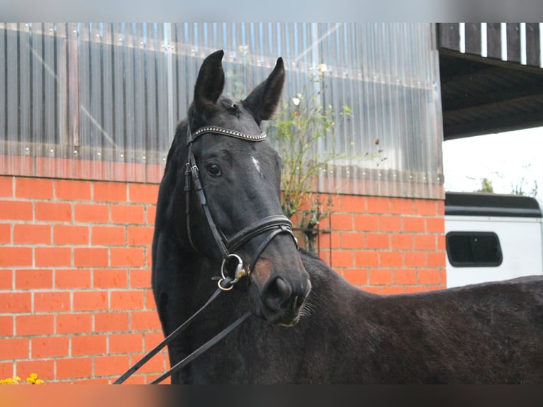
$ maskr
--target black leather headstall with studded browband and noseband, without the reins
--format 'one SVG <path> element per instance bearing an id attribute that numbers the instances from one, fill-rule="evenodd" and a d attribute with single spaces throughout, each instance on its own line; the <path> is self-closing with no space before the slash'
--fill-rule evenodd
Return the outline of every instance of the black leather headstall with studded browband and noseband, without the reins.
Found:
<path id="1" fill-rule="evenodd" d="M 191 236 L 191 191 L 194 189 L 196 196 L 198 196 L 198 201 L 200 202 L 203 213 L 206 215 L 209 228 L 213 234 L 215 243 L 220 250 L 220 255 L 223 258 L 223 263 L 220 267 L 221 278 L 218 281 L 218 286 L 223 291 L 229 291 L 233 289 L 234 284 L 237 283 L 242 277 L 248 277 L 254 265 L 256 264 L 259 256 L 262 254 L 264 249 L 269 245 L 269 242 L 279 235 L 280 233 L 289 233 L 294 242 L 296 243 L 296 248 L 298 248 L 298 240 L 294 237 L 292 233 L 292 222 L 284 215 L 271 215 L 265 218 L 260 219 L 259 221 L 250 223 L 250 225 L 245 226 L 239 230 L 232 238 L 228 239 L 225 235 L 220 232 L 217 225 L 213 221 L 213 216 L 211 216 L 211 211 L 206 199 L 206 194 L 203 192 L 203 186 L 199 177 L 198 165 L 196 165 L 196 159 L 192 153 L 192 144 L 204 134 L 213 134 L 213 135 L 225 135 L 233 138 L 240 138 L 242 140 L 248 140 L 252 142 L 259 142 L 266 138 L 266 132 L 262 131 L 259 135 L 248 135 L 241 133 L 237 130 L 228 130 L 225 128 L 220 128 L 217 126 L 206 126 L 199 128 L 193 133 L 191 133 L 190 126 L 187 124 L 186 132 L 186 144 L 189 147 L 189 152 L 187 155 L 186 169 L 185 169 L 185 201 L 186 201 L 186 233 L 189 237 L 189 242 L 191 246 L 198 252 L 194 246 L 194 242 Z M 233 252 L 239 249 L 245 243 L 252 240 L 256 236 L 267 233 L 267 237 L 257 248 L 257 252 L 254 255 L 252 262 L 247 264 L 244 262 L 240 256 L 235 255 Z M 233 276 L 228 275 L 226 267 L 229 263 L 235 260 L 237 266 L 235 267 L 235 272 Z"/>

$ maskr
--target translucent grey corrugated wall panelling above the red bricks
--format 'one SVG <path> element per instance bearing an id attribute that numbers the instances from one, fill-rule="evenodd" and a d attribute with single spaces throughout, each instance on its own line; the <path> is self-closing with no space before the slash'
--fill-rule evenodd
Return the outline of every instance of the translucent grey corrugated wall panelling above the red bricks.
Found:
<path id="1" fill-rule="evenodd" d="M 320 103 L 352 109 L 318 146 L 349 155 L 319 189 L 442 199 L 430 24 L 0 23 L 0 173 L 158 182 L 201 61 L 221 48 L 226 94 L 245 96 L 281 56 L 285 101 L 324 71 Z"/>

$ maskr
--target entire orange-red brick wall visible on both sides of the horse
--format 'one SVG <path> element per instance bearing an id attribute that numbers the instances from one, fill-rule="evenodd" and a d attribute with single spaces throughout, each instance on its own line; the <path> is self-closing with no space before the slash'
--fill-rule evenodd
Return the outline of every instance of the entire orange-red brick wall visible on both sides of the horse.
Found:
<path id="1" fill-rule="evenodd" d="M 157 191 L 0 177 L 0 379 L 109 383 L 162 340 L 150 289 Z M 321 255 L 337 272 L 381 294 L 444 287 L 442 201 L 334 200 Z M 129 382 L 167 366 L 164 351 Z"/>

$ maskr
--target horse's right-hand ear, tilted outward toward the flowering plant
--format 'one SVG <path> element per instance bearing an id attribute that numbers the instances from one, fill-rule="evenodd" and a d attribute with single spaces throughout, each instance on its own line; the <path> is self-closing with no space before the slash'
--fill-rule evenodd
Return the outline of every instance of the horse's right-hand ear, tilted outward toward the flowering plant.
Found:
<path id="1" fill-rule="evenodd" d="M 254 88 L 250 95 L 242 101 L 243 106 L 251 111 L 258 124 L 263 120 L 268 120 L 275 113 L 279 101 L 281 101 L 284 82 L 285 67 L 283 58 L 279 58 L 268 79 Z"/>

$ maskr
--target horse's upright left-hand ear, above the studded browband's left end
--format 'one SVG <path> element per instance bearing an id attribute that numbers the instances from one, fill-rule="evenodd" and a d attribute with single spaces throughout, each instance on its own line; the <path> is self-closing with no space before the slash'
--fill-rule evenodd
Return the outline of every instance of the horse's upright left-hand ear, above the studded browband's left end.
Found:
<path id="1" fill-rule="evenodd" d="M 199 114 L 203 114 L 208 108 L 214 106 L 223 93 L 225 84 L 223 63 L 221 62 L 223 55 L 223 50 L 215 51 L 202 62 L 194 86 L 194 104 Z"/>

